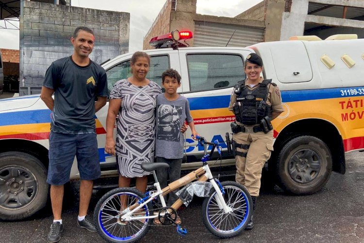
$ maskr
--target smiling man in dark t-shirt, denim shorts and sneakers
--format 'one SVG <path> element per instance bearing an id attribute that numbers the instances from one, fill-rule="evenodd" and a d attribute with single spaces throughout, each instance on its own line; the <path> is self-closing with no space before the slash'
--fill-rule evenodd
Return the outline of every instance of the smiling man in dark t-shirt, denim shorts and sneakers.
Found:
<path id="1" fill-rule="evenodd" d="M 41 99 L 52 111 L 47 177 L 54 216 L 48 235 L 50 243 L 61 239 L 64 184 L 69 181 L 75 156 L 81 177 L 77 226 L 96 232 L 93 220 L 86 214 L 93 180 L 101 174 L 95 112 L 106 104 L 107 78 L 105 70 L 89 58 L 94 47 L 93 31 L 78 27 L 71 42 L 73 54 L 50 65 L 41 93 Z"/>

